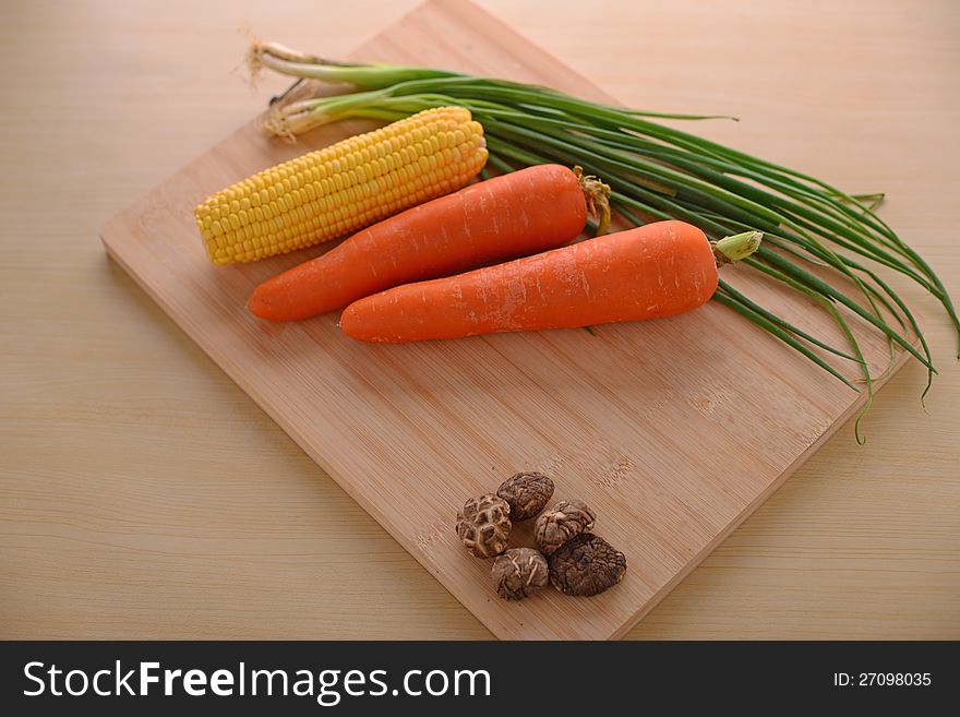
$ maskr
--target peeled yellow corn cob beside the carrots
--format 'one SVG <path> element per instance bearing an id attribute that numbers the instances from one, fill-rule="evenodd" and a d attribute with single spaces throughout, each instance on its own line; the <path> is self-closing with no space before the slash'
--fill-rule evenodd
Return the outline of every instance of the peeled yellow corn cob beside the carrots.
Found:
<path id="1" fill-rule="evenodd" d="M 196 210 L 214 264 L 249 262 L 351 234 L 464 187 L 487 163 L 483 128 L 437 107 L 285 162 Z"/>

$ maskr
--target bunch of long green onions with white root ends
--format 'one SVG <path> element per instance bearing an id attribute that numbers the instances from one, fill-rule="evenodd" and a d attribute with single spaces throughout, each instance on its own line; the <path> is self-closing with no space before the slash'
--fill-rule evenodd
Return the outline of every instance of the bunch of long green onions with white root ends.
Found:
<path id="1" fill-rule="evenodd" d="M 444 70 L 337 62 L 274 43 L 254 43 L 248 61 L 254 75 L 266 68 L 298 77 L 298 83 L 313 80 L 347 89 L 305 99 L 299 98 L 302 93 L 288 91 L 274 98 L 263 122 L 268 135 L 292 140 L 341 119 L 394 121 L 432 107 L 459 105 L 483 126 L 489 166 L 496 171 L 543 163 L 576 164 L 611 186 L 613 207 L 632 225 L 683 219 L 715 238 L 761 231 L 764 246 L 743 263 L 820 307 L 838 324 L 847 346 L 817 338 L 727 282 L 720 282 L 713 298 L 849 387 L 865 391 L 867 402 L 856 421 L 857 441 L 862 441 L 860 419 L 878 377 L 871 374 L 850 326 L 853 315 L 886 337 L 890 365 L 899 348 L 926 368 L 923 396 L 936 373 L 913 313 L 881 272 L 902 274 L 932 294 L 960 337 L 960 319 L 939 277 L 877 215 L 883 194 L 850 194 L 656 121 L 718 116 L 639 111 L 549 87 Z M 819 278 L 824 271 L 841 280 Z M 844 377 L 837 361 L 857 367 L 862 387 Z"/>

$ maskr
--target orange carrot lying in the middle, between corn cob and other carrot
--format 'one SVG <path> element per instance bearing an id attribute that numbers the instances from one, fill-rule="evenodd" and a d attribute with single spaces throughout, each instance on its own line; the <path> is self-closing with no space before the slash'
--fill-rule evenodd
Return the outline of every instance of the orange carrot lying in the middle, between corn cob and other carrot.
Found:
<path id="1" fill-rule="evenodd" d="M 466 187 L 375 224 L 253 291 L 262 319 L 291 321 L 419 279 L 569 243 L 610 188 L 579 167 L 538 165 Z"/>

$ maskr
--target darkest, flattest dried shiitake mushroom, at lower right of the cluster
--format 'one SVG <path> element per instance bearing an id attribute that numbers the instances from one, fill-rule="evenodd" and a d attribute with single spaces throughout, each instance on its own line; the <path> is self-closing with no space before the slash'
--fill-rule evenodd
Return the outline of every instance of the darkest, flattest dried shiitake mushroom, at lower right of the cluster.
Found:
<path id="1" fill-rule="evenodd" d="M 564 595 L 599 595 L 623 579 L 626 558 L 592 533 L 581 533 L 550 555 L 550 582 Z"/>

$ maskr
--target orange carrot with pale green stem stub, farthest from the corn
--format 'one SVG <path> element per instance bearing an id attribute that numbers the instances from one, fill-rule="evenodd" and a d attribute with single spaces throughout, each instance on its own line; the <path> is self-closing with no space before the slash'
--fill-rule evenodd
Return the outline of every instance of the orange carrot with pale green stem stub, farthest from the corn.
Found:
<path id="1" fill-rule="evenodd" d="M 398 286 L 351 303 L 340 328 L 359 340 L 400 343 L 669 316 L 706 303 L 717 290 L 718 262 L 749 255 L 761 236 L 711 244 L 695 226 L 658 222 Z"/>

